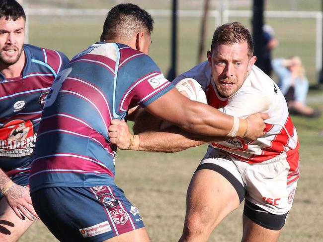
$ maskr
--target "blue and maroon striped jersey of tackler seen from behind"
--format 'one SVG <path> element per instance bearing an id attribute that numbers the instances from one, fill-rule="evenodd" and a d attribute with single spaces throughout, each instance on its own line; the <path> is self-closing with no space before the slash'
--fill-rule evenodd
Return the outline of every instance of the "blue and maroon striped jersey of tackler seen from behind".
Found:
<path id="1" fill-rule="evenodd" d="M 154 102 L 174 86 L 144 53 L 96 43 L 74 57 L 54 81 L 40 122 L 29 177 L 43 187 L 114 185 L 112 119 Z"/>

